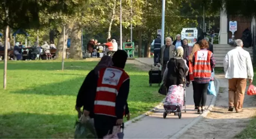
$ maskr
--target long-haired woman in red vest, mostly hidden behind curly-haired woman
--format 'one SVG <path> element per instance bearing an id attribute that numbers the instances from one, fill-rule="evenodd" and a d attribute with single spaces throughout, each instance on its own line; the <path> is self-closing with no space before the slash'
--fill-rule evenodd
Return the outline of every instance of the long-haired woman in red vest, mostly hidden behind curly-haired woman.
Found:
<path id="1" fill-rule="evenodd" d="M 194 98 L 194 104 L 196 103 L 195 100 L 195 83 L 194 83 L 194 76 L 193 76 L 193 57 L 194 57 L 194 53 L 196 51 L 200 50 L 200 46 L 199 44 L 194 44 L 193 46 L 193 49 L 192 49 L 192 52 L 190 53 L 189 57 L 188 57 L 188 76 L 189 76 L 189 82 L 192 82 L 192 85 L 193 85 L 193 98 Z M 195 107 L 195 110 L 197 110 L 198 107 Z"/>

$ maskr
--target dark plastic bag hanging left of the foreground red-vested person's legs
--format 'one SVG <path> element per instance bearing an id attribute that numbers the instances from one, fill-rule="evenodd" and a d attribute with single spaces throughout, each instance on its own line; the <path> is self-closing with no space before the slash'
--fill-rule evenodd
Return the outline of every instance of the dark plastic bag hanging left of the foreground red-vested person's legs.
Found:
<path id="1" fill-rule="evenodd" d="M 82 114 L 80 119 L 75 123 L 74 139 L 98 139 L 93 119 Z"/>

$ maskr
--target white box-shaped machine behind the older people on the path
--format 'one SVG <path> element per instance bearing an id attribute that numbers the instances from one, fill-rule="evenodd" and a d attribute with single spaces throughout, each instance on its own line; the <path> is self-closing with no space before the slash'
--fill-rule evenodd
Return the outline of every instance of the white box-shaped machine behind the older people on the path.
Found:
<path id="1" fill-rule="evenodd" d="M 197 28 L 183 28 L 181 31 L 181 39 L 187 39 L 189 46 L 193 46 L 197 42 L 197 35 Z"/>

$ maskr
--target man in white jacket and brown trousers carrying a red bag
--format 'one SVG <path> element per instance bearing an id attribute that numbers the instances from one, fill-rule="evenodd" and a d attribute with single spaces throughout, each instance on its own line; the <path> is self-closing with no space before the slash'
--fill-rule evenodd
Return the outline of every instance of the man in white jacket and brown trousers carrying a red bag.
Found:
<path id="1" fill-rule="evenodd" d="M 243 41 L 235 40 L 235 48 L 230 50 L 223 60 L 225 78 L 228 79 L 228 111 L 242 112 L 246 81 L 252 83 L 253 66 L 251 56 L 243 49 Z"/>

